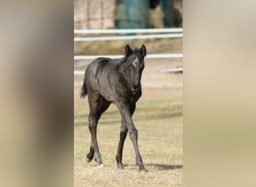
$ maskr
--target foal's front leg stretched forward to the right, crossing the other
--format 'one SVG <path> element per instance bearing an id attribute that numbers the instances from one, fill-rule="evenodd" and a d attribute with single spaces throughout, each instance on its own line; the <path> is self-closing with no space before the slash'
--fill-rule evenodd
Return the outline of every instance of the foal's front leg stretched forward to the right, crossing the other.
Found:
<path id="1" fill-rule="evenodd" d="M 135 160 L 136 164 L 138 165 L 138 169 L 140 172 L 147 172 L 147 170 L 144 168 L 141 154 L 138 150 L 138 131 L 134 126 L 134 123 L 132 122 L 132 115 L 130 114 L 129 105 L 126 105 L 124 103 L 118 104 L 118 109 L 121 113 L 122 118 L 124 118 L 124 123 L 127 125 L 127 129 L 129 132 L 129 138 L 132 140 L 132 145 L 135 150 Z"/>

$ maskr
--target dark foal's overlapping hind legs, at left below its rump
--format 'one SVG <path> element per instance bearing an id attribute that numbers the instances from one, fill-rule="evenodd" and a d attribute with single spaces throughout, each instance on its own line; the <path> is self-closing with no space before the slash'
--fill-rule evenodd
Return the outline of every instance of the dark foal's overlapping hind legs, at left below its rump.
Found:
<path id="1" fill-rule="evenodd" d="M 86 160 L 91 162 L 94 157 L 97 164 L 101 165 L 101 156 L 97 143 L 97 123 L 101 114 L 109 108 L 110 102 L 106 101 L 98 92 L 88 94 L 88 101 L 90 106 L 89 130 L 91 132 L 91 147 Z"/>

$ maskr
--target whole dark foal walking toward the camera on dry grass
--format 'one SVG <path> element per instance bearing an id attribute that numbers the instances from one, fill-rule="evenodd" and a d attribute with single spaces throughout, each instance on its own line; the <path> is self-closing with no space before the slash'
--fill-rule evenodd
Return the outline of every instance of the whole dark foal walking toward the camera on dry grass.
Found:
<path id="1" fill-rule="evenodd" d="M 129 132 L 139 171 L 146 172 L 138 150 L 138 132 L 132 121 L 136 102 L 141 96 L 141 74 L 144 69 L 144 56 L 147 55 L 146 47 L 142 45 L 141 49 L 130 49 L 127 45 L 124 55 L 124 58 L 118 61 L 111 58 L 97 58 L 85 71 L 81 97 L 88 95 L 89 130 L 91 132 L 91 147 L 86 160 L 91 162 L 94 157 L 97 165 L 102 164 L 97 144 L 97 123 L 109 105 L 115 103 L 122 117 L 120 141 L 115 157 L 118 168 L 124 168 L 123 147 L 127 132 Z"/>

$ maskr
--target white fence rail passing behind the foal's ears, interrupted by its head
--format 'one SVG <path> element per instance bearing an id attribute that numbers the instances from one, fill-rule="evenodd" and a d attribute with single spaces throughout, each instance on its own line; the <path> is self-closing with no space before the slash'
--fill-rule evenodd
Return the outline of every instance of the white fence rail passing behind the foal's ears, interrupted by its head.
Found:
<path id="1" fill-rule="evenodd" d="M 124 55 L 75 55 L 74 60 L 94 60 L 99 57 L 118 59 Z M 183 58 L 183 54 L 150 54 L 146 58 Z"/>

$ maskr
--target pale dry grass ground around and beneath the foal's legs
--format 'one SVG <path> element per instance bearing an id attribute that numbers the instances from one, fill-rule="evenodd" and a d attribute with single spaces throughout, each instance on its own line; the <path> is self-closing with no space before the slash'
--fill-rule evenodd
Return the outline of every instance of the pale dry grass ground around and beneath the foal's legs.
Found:
<path id="1" fill-rule="evenodd" d="M 88 101 L 75 102 L 75 186 L 182 186 L 182 101 L 167 99 L 141 101 L 132 117 L 138 129 L 138 146 L 146 174 L 138 173 L 135 153 L 127 136 L 124 144 L 124 170 L 118 170 L 121 117 L 115 105 L 106 111 L 98 126 L 98 143 L 103 167 L 87 163 L 91 144 L 88 131 Z"/>

